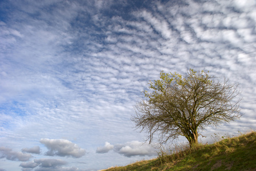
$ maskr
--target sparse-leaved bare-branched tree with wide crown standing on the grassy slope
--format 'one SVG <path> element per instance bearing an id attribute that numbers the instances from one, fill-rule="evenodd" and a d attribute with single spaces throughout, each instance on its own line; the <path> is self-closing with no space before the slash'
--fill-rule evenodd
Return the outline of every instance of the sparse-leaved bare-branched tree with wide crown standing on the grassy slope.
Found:
<path id="1" fill-rule="evenodd" d="M 160 73 L 160 79 L 149 82 L 152 92 L 135 105 L 132 117 L 135 127 L 148 133 L 149 143 L 155 134 L 160 143 L 185 136 L 190 147 L 197 145 L 198 131 L 208 125 L 239 119 L 237 84 L 220 82 L 208 72 L 188 70 L 184 76 Z"/>

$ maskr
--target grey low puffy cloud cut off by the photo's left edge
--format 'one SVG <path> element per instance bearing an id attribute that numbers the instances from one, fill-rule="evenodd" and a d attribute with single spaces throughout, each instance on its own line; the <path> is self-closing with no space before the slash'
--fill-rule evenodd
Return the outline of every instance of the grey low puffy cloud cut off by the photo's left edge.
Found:
<path id="1" fill-rule="evenodd" d="M 22 152 L 14 152 L 10 148 L 6 148 L 4 146 L 0 147 L 0 158 L 6 158 L 7 160 L 13 161 L 28 161 L 32 157 L 31 154 L 22 153 Z"/>

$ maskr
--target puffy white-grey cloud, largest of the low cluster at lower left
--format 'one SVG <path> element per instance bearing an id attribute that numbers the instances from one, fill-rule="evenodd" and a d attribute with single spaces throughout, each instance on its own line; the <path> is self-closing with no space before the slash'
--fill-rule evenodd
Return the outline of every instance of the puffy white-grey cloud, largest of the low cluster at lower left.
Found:
<path id="1" fill-rule="evenodd" d="M 41 139 L 40 143 L 47 147 L 47 156 L 71 156 L 79 158 L 86 154 L 86 150 L 64 139 Z"/>

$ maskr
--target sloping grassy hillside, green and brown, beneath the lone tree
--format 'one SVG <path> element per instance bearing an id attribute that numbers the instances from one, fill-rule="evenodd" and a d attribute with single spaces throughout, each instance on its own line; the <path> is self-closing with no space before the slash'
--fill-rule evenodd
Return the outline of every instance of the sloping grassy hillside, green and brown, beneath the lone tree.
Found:
<path id="1" fill-rule="evenodd" d="M 256 132 L 222 137 L 214 144 L 193 149 L 178 149 L 172 155 L 162 151 L 153 160 L 106 169 L 115 170 L 256 170 Z"/>

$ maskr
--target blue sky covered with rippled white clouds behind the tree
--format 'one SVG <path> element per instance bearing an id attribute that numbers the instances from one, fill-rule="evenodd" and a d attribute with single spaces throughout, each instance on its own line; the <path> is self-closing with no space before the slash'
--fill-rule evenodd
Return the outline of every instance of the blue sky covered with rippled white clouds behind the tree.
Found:
<path id="1" fill-rule="evenodd" d="M 238 83 L 256 129 L 256 1 L 0 2 L 0 170 L 100 170 L 157 156 L 133 106 L 160 72 Z M 180 139 L 182 141 L 182 138 Z"/>

